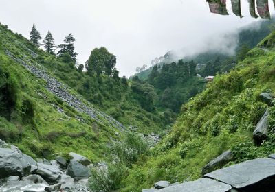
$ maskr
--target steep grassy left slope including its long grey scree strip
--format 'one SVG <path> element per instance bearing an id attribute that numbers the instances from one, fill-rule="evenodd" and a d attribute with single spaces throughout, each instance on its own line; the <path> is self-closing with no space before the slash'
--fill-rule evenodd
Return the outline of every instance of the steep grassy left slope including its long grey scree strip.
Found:
<path id="1" fill-rule="evenodd" d="M 0 138 L 31 156 L 102 158 L 124 126 L 54 77 L 41 56 L 47 53 L 0 26 Z"/>

